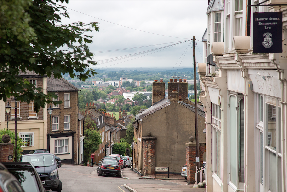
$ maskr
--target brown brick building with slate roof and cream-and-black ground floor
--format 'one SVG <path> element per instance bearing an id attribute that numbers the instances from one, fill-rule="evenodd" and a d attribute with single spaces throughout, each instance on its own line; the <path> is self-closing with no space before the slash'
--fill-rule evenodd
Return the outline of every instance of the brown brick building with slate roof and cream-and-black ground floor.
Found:
<path id="1" fill-rule="evenodd" d="M 54 100 L 62 101 L 61 104 L 51 106 L 51 127 L 50 117 L 47 117 L 47 150 L 61 158 L 63 163 L 78 164 L 79 142 L 83 145 L 84 139 L 83 118 L 79 120 L 79 90 L 65 79 L 51 76 L 47 78 L 47 92 L 55 93 L 58 98 Z"/>

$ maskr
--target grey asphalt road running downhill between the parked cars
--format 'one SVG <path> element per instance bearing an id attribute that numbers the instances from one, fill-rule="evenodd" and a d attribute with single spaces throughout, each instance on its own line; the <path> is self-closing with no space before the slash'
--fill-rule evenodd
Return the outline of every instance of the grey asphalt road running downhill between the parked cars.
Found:
<path id="1" fill-rule="evenodd" d="M 124 179 L 113 176 L 98 176 L 97 166 L 62 165 L 59 168 L 62 191 L 129 192 L 124 184 L 164 184 L 179 185 L 156 179 Z"/>

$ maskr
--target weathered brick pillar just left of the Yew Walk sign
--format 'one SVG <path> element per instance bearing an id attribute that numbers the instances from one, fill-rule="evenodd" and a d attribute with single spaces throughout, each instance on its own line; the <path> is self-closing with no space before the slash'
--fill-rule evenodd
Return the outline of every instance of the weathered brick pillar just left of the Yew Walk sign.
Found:
<path id="1" fill-rule="evenodd" d="M 156 137 L 142 137 L 143 140 L 143 175 L 154 174 L 156 166 Z"/>

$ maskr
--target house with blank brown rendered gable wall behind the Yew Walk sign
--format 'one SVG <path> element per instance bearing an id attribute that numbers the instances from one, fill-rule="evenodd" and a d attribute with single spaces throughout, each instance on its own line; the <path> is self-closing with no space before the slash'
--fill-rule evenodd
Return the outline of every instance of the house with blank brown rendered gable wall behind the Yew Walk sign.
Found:
<path id="1" fill-rule="evenodd" d="M 190 136 L 195 137 L 195 109 L 187 99 L 188 83 L 171 79 L 167 98 L 164 87 L 162 80 L 153 82 L 152 106 L 139 112 L 133 122 L 133 168 L 139 175 L 154 174 L 154 166 L 169 167 L 170 174 L 180 174 L 186 164 L 185 143 Z M 198 122 L 204 122 L 204 118 L 203 107 L 198 106 Z M 198 123 L 199 143 L 205 143 L 205 124 L 201 124 Z M 204 156 L 201 154 L 200 159 Z"/>

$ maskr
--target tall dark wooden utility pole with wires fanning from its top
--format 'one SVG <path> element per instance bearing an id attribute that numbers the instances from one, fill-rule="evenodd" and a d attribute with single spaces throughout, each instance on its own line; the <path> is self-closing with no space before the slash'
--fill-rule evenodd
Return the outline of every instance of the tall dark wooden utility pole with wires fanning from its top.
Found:
<path id="1" fill-rule="evenodd" d="M 197 125 L 197 90 L 196 90 L 196 63 L 195 63 L 195 36 L 192 38 L 193 45 L 193 75 L 194 75 L 194 117 L 195 117 L 195 144 L 196 144 L 196 157 L 199 158 L 199 142 L 198 142 L 198 125 Z M 200 168 L 200 162 L 196 162 L 197 169 Z M 197 170 L 196 170 L 197 172 Z M 197 173 L 197 181 L 200 176 Z M 201 181 L 200 181 L 201 182 Z M 197 183 L 196 183 L 197 184 Z"/>

